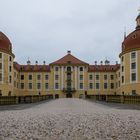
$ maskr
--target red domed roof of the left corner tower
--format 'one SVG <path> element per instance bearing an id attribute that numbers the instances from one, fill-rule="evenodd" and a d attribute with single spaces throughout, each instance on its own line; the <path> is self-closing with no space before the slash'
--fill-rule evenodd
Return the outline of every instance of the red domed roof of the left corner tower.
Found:
<path id="1" fill-rule="evenodd" d="M 12 44 L 8 37 L 0 31 L 0 50 L 5 53 L 12 53 Z"/>

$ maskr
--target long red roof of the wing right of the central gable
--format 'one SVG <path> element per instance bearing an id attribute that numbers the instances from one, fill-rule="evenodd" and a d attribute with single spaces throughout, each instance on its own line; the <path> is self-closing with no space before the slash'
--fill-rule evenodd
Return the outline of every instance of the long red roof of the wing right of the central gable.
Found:
<path id="1" fill-rule="evenodd" d="M 89 72 L 116 72 L 119 70 L 120 65 L 90 65 Z"/>

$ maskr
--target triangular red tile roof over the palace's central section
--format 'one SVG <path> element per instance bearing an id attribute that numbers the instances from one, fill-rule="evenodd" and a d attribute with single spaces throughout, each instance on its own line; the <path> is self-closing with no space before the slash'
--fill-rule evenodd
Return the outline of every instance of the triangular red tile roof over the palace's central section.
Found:
<path id="1" fill-rule="evenodd" d="M 79 60 L 75 56 L 71 54 L 67 54 L 61 59 L 51 63 L 50 65 L 67 65 L 67 64 L 72 64 L 72 65 L 89 65 L 88 63 Z"/>

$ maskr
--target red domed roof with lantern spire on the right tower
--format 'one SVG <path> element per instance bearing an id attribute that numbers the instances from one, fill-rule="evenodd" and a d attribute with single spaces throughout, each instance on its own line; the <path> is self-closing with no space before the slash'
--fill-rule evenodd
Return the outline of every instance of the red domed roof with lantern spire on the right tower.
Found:
<path id="1" fill-rule="evenodd" d="M 125 37 L 122 42 L 121 54 L 140 49 L 140 14 L 137 16 L 136 22 L 136 30 Z"/>

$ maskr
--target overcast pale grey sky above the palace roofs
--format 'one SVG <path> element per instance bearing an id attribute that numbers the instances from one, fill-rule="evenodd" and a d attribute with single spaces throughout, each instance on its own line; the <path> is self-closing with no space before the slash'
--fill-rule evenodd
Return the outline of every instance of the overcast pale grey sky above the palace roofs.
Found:
<path id="1" fill-rule="evenodd" d="M 135 29 L 139 0 L 0 0 L 0 30 L 15 61 L 51 63 L 71 50 L 76 57 L 118 60 L 124 27 Z"/>

